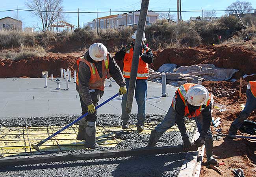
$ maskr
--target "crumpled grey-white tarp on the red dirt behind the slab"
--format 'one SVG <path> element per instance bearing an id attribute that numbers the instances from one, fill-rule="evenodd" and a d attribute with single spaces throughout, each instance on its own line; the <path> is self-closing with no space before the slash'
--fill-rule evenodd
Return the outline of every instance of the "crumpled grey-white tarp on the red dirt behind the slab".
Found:
<path id="1" fill-rule="evenodd" d="M 162 72 L 151 71 L 148 80 L 161 83 L 162 74 L 166 74 L 167 83 L 179 87 L 184 83 L 198 83 L 198 79 L 205 81 L 226 81 L 239 71 L 236 69 L 217 68 L 213 64 L 180 66 L 174 69 L 175 64 L 164 65 L 162 65 L 162 68 L 160 67 Z M 168 66 L 170 66 L 169 69 Z"/>

